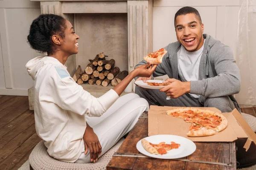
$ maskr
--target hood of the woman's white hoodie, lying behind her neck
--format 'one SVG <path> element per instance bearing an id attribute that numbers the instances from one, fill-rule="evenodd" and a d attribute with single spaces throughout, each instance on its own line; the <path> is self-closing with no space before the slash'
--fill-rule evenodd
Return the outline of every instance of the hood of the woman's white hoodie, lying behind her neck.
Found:
<path id="1" fill-rule="evenodd" d="M 46 65 L 47 63 L 55 63 L 58 65 L 62 65 L 61 62 L 58 61 L 58 59 L 49 56 L 35 57 L 26 63 L 27 71 L 29 72 L 29 75 L 32 77 L 33 80 L 35 79 L 36 73 L 39 70 L 39 68 Z"/>

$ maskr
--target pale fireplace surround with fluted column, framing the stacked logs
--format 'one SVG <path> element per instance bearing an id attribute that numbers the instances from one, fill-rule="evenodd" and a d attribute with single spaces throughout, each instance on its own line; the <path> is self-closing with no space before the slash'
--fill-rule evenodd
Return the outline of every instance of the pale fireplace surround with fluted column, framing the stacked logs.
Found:
<path id="1" fill-rule="evenodd" d="M 153 0 L 31 0 L 40 1 L 42 14 L 58 14 L 75 27 L 74 14 L 127 13 L 128 18 L 128 71 L 152 51 Z M 76 29 L 76 28 L 75 28 Z M 76 56 L 66 62 L 70 75 L 76 66 Z M 133 82 L 126 92 L 134 91 Z"/>

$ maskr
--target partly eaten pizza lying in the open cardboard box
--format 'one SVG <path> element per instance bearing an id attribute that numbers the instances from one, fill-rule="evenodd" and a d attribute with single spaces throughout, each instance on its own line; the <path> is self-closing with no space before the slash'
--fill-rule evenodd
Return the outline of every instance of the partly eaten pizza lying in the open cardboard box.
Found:
<path id="1" fill-rule="evenodd" d="M 191 123 L 187 136 L 211 136 L 227 127 L 227 119 L 221 113 L 199 108 L 177 108 L 167 114 Z"/>

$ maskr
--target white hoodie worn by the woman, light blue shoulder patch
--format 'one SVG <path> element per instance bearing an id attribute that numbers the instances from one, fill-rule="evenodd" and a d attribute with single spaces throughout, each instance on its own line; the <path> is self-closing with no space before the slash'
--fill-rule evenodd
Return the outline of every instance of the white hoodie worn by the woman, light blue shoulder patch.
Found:
<path id="1" fill-rule="evenodd" d="M 96 98 L 78 85 L 65 65 L 53 57 L 31 59 L 34 79 L 35 129 L 55 159 L 75 162 L 84 152 L 85 114 L 101 116 L 118 99 L 112 89 Z"/>

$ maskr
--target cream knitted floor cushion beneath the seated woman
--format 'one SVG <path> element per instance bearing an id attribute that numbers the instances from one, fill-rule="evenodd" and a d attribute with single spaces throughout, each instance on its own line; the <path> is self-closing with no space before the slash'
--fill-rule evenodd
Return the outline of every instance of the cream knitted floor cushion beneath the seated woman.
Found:
<path id="1" fill-rule="evenodd" d="M 110 150 L 102 155 L 96 163 L 78 164 L 58 161 L 47 153 L 44 142 L 39 142 L 29 155 L 29 163 L 33 170 L 105 170 L 113 154 L 124 142 L 121 138 Z"/>

